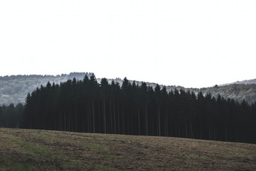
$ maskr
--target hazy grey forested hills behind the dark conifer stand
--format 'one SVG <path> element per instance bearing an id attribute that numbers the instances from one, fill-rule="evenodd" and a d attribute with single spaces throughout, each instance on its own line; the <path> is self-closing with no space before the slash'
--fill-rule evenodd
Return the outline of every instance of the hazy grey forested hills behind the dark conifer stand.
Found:
<path id="1" fill-rule="evenodd" d="M 36 87 L 46 85 L 47 82 L 60 84 L 67 80 L 76 78 L 77 80 L 83 80 L 84 75 L 90 77 L 92 73 L 69 73 L 61 75 L 11 75 L 0 77 L 0 105 L 9 105 L 13 103 L 25 103 L 25 99 L 28 93 L 33 92 Z M 121 78 L 108 79 L 109 83 L 114 80 L 120 85 L 122 84 Z M 100 82 L 100 78 L 97 78 Z M 133 80 L 131 80 L 133 82 Z M 135 81 L 136 84 L 141 84 L 140 81 Z M 185 88 L 176 85 L 165 85 L 167 91 L 174 91 L 175 89 L 183 89 L 185 91 L 193 91 L 196 94 L 202 92 L 204 95 L 211 93 L 215 98 L 220 94 L 223 98 L 232 98 L 235 101 L 246 100 L 248 103 L 255 103 L 256 101 L 256 79 L 244 80 L 241 82 L 234 82 L 227 85 L 216 85 L 214 87 L 206 88 Z M 147 82 L 148 85 L 155 87 L 156 83 Z M 163 87 L 164 85 L 160 85 Z"/>

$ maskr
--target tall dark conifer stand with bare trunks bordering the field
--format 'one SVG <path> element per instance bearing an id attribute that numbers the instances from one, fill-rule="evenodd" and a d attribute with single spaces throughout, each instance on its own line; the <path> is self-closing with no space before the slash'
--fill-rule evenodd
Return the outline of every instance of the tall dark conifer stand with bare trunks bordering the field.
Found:
<path id="1" fill-rule="evenodd" d="M 256 104 L 85 75 L 28 94 L 22 127 L 256 143 Z"/>

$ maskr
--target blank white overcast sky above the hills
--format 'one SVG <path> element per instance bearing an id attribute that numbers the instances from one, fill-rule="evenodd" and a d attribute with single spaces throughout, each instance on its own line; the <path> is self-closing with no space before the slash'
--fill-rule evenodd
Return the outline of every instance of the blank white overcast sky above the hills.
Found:
<path id="1" fill-rule="evenodd" d="M 0 75 L 209 87 L 256 78 L 255 0 L 0 0 Z"/>

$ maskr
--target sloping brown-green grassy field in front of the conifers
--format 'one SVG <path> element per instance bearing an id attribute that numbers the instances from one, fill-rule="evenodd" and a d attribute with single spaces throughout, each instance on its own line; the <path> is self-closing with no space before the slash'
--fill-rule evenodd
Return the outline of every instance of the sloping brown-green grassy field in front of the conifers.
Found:
<path id="1" fill-rule="evenodd" d="M 256 170 L 256 145 L 0 128 L 0 170 Z"/>

